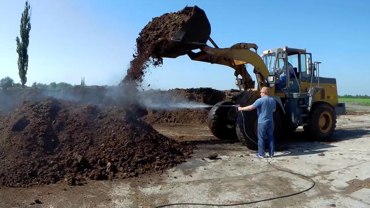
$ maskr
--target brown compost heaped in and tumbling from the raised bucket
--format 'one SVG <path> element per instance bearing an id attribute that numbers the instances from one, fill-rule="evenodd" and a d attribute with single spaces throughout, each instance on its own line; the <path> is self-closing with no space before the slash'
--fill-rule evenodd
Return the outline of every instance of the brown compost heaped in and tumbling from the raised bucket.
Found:
<path id="1" fill-rule="evenodd" d="M 145 70 L 163 63 L 162 49 L 189 18 L 193 7 L 185 7 L 175 13 L 155 17 L 139 33 L 136 39 L 134 59 L 130 62 L 126 77 L 121 84 L 140 84 Z"/>

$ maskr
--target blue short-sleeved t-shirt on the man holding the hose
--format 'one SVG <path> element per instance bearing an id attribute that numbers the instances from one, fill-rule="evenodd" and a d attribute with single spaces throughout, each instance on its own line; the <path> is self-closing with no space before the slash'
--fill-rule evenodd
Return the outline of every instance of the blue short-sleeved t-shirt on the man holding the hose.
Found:
<path id="1" fill-rule="evenodd" d="M 273 122 L 272 113 L 276 109 L 276 101 L 270 96 L 265 96 L 257 99 L 253 104 L 253 107 L 258 110 L 258 123 Z"/>

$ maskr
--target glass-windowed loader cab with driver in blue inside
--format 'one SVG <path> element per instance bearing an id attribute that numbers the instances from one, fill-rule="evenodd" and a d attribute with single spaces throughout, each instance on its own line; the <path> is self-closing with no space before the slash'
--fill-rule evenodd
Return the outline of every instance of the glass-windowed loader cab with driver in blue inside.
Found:
<path id="1" fill-rule="evenodd" d="M 269 86 L 275 93 L 302 92 L 301 83 L 310 77 L 312 58 L 305 49 L 275 48 L 263 51 L 263 61 L 269 70 Z"/>

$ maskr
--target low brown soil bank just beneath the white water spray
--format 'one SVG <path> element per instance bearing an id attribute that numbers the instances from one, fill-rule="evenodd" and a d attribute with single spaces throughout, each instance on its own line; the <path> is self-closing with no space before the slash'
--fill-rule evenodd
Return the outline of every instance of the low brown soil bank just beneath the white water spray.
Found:
<path id="1" fill-rule="evenodd" d="M 207 123 L 209 110 L 203 109 L 182 109 L 174 111 L 149 111 L 143 120 L 149 124 L 161 123 L 186 123 L 205 124 Z"/>

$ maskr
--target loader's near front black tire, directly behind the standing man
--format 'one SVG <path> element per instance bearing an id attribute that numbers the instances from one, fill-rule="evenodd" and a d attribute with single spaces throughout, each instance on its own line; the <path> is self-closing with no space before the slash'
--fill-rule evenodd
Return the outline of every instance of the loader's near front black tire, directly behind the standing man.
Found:
<path id="1" fill-rule="evenodd" d="M 238 118 L 235 122 L 235 130 L 236 130 L 236 135 L 238 136 L 238 139 L 240 142 L 242 142 L 244 145 L 248 147 L 250 150 L 258 150 L 258 145 L 256 144 L 258 142 L 258 115 L 257 115 L 257 110 L 252 110 L 252 111 L 242 111 L 243 116 L 244 116 L 244 124 L 245 126 L 243 127 L 243 116 L 239 112 L 238 113 Z M 273 120 L 274 120 L 274 141 L 278 141 L 282 135 L 282 117 L 281 113 L 276 110 L 273 113 Z M 245 128 L 245 132 L 244 132 Z M 251 141 L 247 135 L 252 139 Z M 256 142 L 256 143 L 255 143 Z M 265 148 L 268 147 L 268 142 L 266 139 L 265 142 Z"/>

